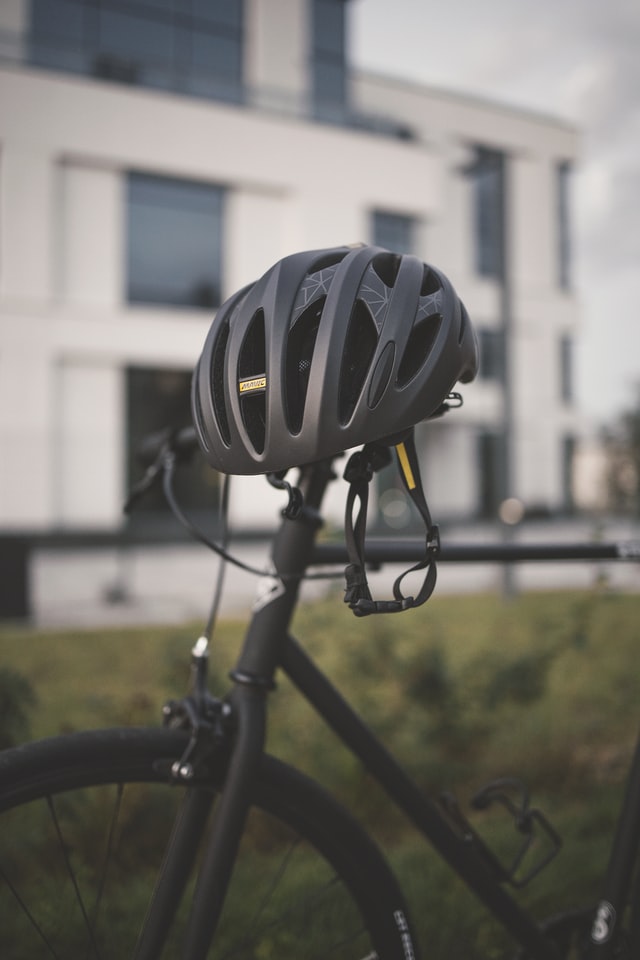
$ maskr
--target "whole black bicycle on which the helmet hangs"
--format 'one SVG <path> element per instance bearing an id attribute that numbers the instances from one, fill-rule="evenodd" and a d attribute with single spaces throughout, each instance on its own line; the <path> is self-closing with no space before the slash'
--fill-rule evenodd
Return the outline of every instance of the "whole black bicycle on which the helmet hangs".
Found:
<path id="1" fill-rule="evenodd" d="M 144 485 L 163 476 L 184 522 L 171 478 L 194 447 L 193 431 L 186 430 L 155 438 L 147 450 L 152 465 Z M 541 924 L 508 889 L 522 882 L 521 858 L 514 869 L 505 868 L 454 801 L 443 806 L 426 797 L 290 635 L 309 569 L 345 559 L 343 545 L 317 542 L 323 497 L 334 477 L 327 461 L 303 468 L 295 488 L 274 480 L 289 492 L 289 503 L 225 696 L 208 690 L 209 641 L 203 636 L 192 651 L 190 692 L 165 705 L 162 727 L 76 733 L 0 754 L 4 956 L 419 956 L 401 888 L 358 820 L 320 785 L 265 752 L 266 707 L 278 671 L 484 903 L 518 956 L 640 955 L 640 911 L 632 911 L 624 932 L 616 923 L 631 898 L 638 903 L 631 886 L 640 843 L 640 746 L 599 903 Z M 226 555 L 224 543 L 218 549 Z M 366 554 L 376 564 L 404 562 L 419 558 L 423 549 L 411 541 L 382 540 L 369 542 Z M 640 544 L 447 549 L 438 543 L 435 552 L 444 561 L 638 560 Z M 214 619 L 212 613 L 208 629 Z M 522 835 L 523 856 L 541 838 L 546 862 L 560 840 L 526 793 L 515 789 L 514 799 L 512 782 L 494 783 L 478 805 L 505 806 Z M 104 832 L 98 822 L 106 824 Z M 143 835 L 145 823 L 152 824 L 151 837 Z M 139 877 L 149 885 L 149 899 L 145 892 L 138 900 L 127 887 L 129 902 L 116 897 L 106 915 L 104 890 L 109 883 L 117 891 L 130 862 L 141 869 L 141 844 L 150 848 Z M 128 858 L 131 847 L 135 855 Z M 30 862 L 36 851 L 44 858 L 41 866 Z M 544 862 L 526 872 L 537 872 Z M 236 884 L 241 903 L 233 898 Z M 53 891 L 61 894 L 60 904 L 51 902 Z M 33 903 L 27 903 L 27 892 Z M 135 943 L 127 942 L 127 908 L 139 914 Z"/>

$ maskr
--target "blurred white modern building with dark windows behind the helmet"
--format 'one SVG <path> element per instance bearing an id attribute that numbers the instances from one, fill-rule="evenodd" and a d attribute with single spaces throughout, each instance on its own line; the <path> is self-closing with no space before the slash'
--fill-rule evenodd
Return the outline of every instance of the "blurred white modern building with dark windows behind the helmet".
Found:
<path id="1" fill-rule="evenodd" d="M 216 305 L 288 253 L 357 240 L 444 270 L 480 333 L 464 409 L 422 429 L 434 514 L 571 505 L 576 132 L 354 73 L 348 6 L 0 4 L 5 535 L 127 529 L 132 445 L 188 416 Z M 272 523 L 263 486 L 235 487 L 246 527 Z"/>

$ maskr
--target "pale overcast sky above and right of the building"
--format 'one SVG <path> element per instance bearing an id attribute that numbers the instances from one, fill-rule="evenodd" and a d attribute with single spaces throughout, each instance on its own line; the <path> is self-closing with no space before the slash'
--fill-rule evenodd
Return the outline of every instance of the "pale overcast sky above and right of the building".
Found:
<path id="1" fill-rule="evenodd" d="M 554 114 L 583 133 L 576 388 L 610 422 L 640 400 L 640 2 L 352 0 L 368 70 Z"/>

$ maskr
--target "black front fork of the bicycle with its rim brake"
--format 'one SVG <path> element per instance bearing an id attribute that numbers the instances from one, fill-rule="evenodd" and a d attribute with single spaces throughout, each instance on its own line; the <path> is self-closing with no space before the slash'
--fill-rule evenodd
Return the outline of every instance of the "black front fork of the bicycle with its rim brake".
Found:
<path id="1" fill-rule="evenodd" d="M 202 638 L 192 654 L 191 692 L 164 708 L 165 725 L 186 729 L 190 739 L 182 756 L 167 769 L 170 782 L 186 785 L 184 799 L 164 852 L 147 916 L 138 937 L 135 960 L 156 960 L 162 953 L 198 851 L 204 857 L 186 932 L 183 956 L 206 957 L 222 911 L 226 888 L 250 806 L 264 747 L 265 695 L 268 685 L 238 678 L 228 702 L 207 691 L 208 645 Z M 211 759 L 225 763 L 224 786 L 206 785 Z M 203 777 L 205 785 L 202 784 Z M 193 786 L 189 783 L 193 781 Z M 216 812 L 204 840 L 214 800 Z"/>

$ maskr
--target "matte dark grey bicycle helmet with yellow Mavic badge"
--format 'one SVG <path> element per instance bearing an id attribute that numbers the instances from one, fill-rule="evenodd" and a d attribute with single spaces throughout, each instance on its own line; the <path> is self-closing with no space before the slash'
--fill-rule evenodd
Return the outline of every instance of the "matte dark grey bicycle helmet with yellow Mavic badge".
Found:
<path id="1" fill-rule="evenodd" d="M 297 253 L 218 310 L 194 372 L 196 432 L 217 470 L 279 473 L 411 428 L 477 364 L 439 270 L 373 246 Z"/>

